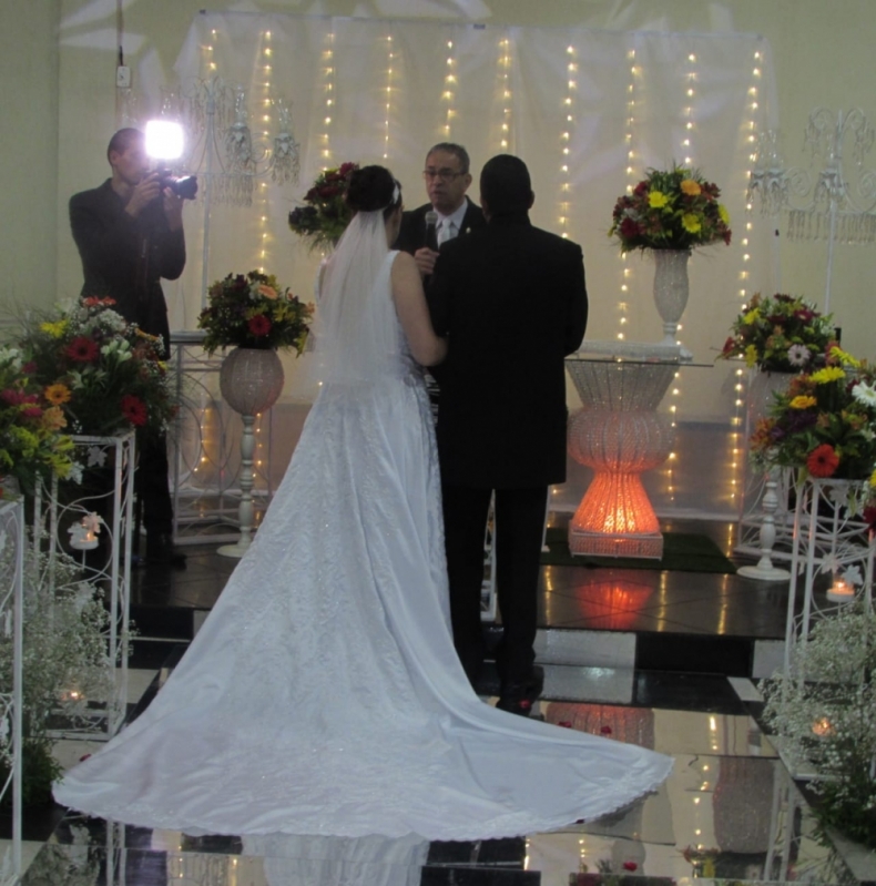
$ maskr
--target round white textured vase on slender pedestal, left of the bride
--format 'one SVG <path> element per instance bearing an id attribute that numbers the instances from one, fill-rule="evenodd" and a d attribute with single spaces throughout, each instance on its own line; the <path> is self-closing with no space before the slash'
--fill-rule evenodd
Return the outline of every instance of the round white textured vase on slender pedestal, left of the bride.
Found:
<path id="1" fill-rule="evenodd" d="M 220 390 L 225 401 L 243 419 L 241 437 L 241 505 L 237 509 L 241 534 L 234 544 L 223 544 L 223 557 L 243 557 L 253 540 L 253 425 L 259 413 L 269 409 L 283 390 L 283 364 L 275 350 L 234 348 L 220 369 Z"/>

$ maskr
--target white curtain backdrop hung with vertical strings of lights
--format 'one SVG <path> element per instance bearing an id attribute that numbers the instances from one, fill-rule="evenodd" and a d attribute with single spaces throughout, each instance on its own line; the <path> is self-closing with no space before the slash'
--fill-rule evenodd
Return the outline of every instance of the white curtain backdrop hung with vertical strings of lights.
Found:
<path id="1" fill-rule="evenodd" d="M 763 38 L 205 12 L 192 22 L 176 72 L 183 93 L 213 77 L 242 84 L 253 133 L 269 133 L 268 144 L 271 100 L 291 102 L 302 171 L 296 185 L 259 179 L 252 207 L 214 203 L 206 251 L 204 203 L 186 208 L 190 261 L 183 297 L 169 298 L 181 305 L 173 328 L 195 326 L 202 278 L 232 271 L 263 267 L 309 298 L 320 256 L 286 217 L 318 172 L 345 161 L 381 163 L 414 207 L 425 202 L 426 151 L 454 141 L 471 155 L 475 201 L 490 156 L 527 162 L 533 223 L 584 249 L 589 338 L 656 342 L 653 264 L 639 254 L 622 258 L 607 232 L 617 197 L 648 167 L 675 161 L 721 186 L 733 243 L 700 249 L 690 262 L 679 337 L 709 366 L 682 370 L 664 408 L 680 422 L 729 428 L 743 415 L 736 367 L 712 364 L 740 306 L 777 287 L 772 227 L 745 201 L 754 141 L 777 124 Z M 306 397 L 306 361 L 287 361 L 287 396 Z M 578 405 L 573 390 L 569 404 Z"/>

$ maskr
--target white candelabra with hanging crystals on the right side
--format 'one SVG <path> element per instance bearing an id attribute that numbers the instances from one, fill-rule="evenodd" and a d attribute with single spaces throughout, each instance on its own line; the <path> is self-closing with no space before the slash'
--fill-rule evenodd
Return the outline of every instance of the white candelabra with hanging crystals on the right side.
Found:
<path id="1" fill-rule="evenodd" d="M 811 162 L 822 161 L 817 176 L 799 166 L 787 169 L 778 151 L 776 133 L 760 138 L 748 183 L 748 200 L 757 194 L 764 215 L 787 213 L 787 236 L 792 241 L 827 241 L 827 273 L 824 313 L 831 309 L 831 277 L 834 245 L 876 242 L 876 173 L 864 167 L 873 149 L 874 132 L 864 112 L 855 108 L 836 115 L 825 108 L 809 114 L 804 147 Z M 844 149 L 850 142 L 853 164 L 844 164 Z M 848 173 L 853 177 L 848 177 Z"/>

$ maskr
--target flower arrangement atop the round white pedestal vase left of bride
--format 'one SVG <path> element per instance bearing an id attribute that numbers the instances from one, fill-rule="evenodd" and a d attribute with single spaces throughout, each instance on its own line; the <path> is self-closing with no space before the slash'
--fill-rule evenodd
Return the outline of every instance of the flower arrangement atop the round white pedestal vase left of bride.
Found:
<path id="1" fill-rule="evenodd" d="M 207 354 L 226 347 L 294 347 L 301 354 L 313 313 L 313 305 L 281 288 L 273 274 L 251 271 L 228 274 L 210 287 L 197 328 L 206 329 L 203 347 Z"/>

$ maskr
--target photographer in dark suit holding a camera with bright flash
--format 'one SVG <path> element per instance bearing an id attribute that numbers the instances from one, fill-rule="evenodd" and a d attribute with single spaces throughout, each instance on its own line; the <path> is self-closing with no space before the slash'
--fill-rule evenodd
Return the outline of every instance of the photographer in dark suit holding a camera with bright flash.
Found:
<path id="1" fill-rule="evenodd" d="M 82 258 L 82 296 L 113 298 L 115 310 L 144 333 L 161 336 L 169 356 L 170 326 L 161 277 L 185 267 L 183 197 L 150 172 L 145 136 L 122 129 L 110 140 L 112 177 L 70 200 L 70 226 Z M 185 556 L 172 543 L 166 440 L 137 440 L 137 497 L 146 530 L 146 560 L 179 568 Z"/>

